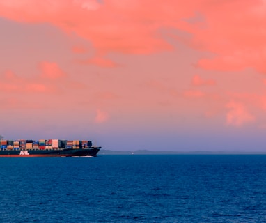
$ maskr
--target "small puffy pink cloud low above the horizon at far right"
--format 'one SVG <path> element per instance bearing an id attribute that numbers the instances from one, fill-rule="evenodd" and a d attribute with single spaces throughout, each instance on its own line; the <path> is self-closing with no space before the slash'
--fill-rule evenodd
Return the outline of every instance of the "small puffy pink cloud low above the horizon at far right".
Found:
<path id="1" fill-rule="evenodd" d="M 247 123 L 252 123 L 256 119 L 241 103 L 229 102 L 226 107 L 230 109 L 226 114 L 227 125 L 242 126 Z"/>

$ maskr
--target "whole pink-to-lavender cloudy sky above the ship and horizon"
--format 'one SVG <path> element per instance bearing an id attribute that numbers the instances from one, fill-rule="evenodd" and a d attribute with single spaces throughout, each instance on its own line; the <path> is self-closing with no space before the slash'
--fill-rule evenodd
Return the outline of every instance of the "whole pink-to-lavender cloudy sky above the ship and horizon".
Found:
<path id="1" fill-rule="evenodd" d="M 0 134 L 266 151 L 265 0 L 0 0 Z"/>

